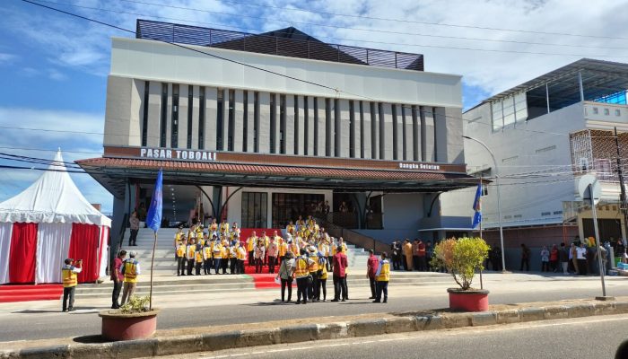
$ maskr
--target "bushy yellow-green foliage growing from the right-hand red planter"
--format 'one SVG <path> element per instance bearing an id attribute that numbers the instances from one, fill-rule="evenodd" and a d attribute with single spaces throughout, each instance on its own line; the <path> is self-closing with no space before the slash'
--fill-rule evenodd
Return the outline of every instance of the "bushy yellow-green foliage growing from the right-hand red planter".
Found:
<path id="1" fill-rule="evenodd" d="M 484 269 L 490 247 L 481 238 L 450 238 L 434 247 L 432 266 L 445 267 L 463 291 L 471 288 L 475 269 Z"/>

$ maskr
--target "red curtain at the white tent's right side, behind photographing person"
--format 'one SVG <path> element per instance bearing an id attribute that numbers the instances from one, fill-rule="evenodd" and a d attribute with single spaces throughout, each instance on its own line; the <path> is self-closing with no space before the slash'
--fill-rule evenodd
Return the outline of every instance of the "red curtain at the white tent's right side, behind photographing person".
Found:
<path id="1" fill-rule="evenodd" d="M 99 241 L 98 225 L 72 223 L 69 257 L 83 259 L 83 271 L 78 275 L 79 283 L 95 282 L 98 279 Z"/>

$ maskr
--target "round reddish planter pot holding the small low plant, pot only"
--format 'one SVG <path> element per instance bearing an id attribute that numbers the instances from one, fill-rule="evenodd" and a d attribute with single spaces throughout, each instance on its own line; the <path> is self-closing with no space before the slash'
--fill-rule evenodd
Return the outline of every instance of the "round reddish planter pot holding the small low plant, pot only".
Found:
<path id="1" fill-rule="evenodd" d="M 108 340 L 134 340 L 152 337 L 157 329 L 159 309 L 141 313 L 122 314 L 119 311 L 100 311 L 102 337 Z"/>

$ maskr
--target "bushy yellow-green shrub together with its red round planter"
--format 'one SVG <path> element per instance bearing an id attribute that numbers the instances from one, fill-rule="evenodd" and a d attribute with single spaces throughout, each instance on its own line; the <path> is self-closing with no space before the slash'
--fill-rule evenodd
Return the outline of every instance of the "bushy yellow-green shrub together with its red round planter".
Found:
<path id="1" fill-rule="evenodd" d="M 445 267 L 459 288 L 448 288 L 449 309 L 487 311 L 488 291 L 471 287 L 476 269 L 484 269 L 489 246 L 481 238 L 458 238 L 440 241 L 434 247 L 432 265 Z"/>

